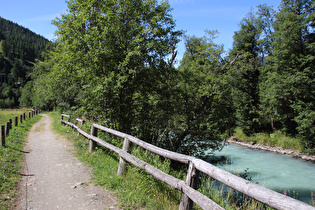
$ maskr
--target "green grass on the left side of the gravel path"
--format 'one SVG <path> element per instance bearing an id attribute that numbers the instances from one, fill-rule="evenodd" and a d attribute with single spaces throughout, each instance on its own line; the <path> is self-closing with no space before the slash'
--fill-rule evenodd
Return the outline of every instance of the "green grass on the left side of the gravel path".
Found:
<path id="1" fill-rule="evenodd" d="M 23 112 L 22 112 L 23 113 Z M 12 116 L 17 112 L 6 112 L 5 116 Z M 1 112 L 1 116 L 4 112 Z M 4 116 L 4 118 L 5 118 Z M 13 116 L 13 117 L 14 117 Z M 10 118 L 9 117 L 9 118 Z M 8 118 L 8 119 L 9 119 Z M 38 122 L 41 116 L 35 115 L 33 118 L 26 118 L 23 123 L 10 130 L 10 135 L 6 137 L 6 146 L 0 146 L 0 209 L 12 209 L 14 198 L 17 195 L 17 184 L 21 178 L 23 169 L 23 147 L 28 131 L 33 124 Z"/>

